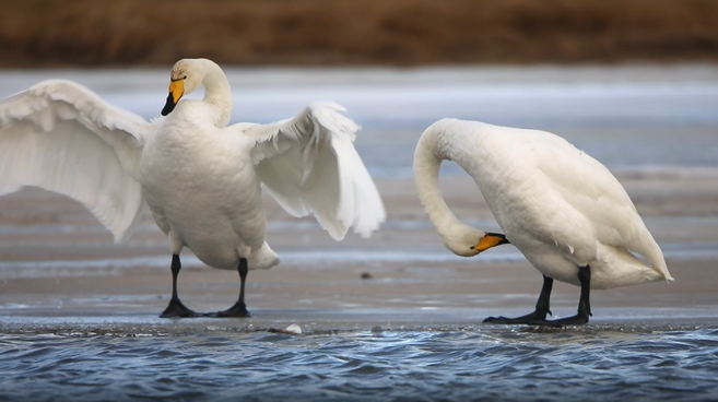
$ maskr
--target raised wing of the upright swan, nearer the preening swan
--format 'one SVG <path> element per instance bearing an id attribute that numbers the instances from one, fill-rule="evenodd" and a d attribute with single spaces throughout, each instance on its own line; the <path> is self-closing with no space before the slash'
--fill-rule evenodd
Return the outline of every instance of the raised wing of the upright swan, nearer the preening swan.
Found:
<path id="1" fill-rule="evenodd" d="M 354 149 L 358 126 L 334 103 L 314 103 L 293 119 L 244 128 L 269 192 L 291 214 L 314 212 L 334 239 L 364 237 L 386 218 L 379 192 Z"/>

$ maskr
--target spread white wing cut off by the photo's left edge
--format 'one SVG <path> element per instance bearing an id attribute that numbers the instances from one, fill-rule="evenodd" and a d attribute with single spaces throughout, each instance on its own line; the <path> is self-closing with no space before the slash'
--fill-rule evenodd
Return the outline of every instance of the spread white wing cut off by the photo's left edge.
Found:
<path id="1" fill-rule="evenodd" d="M 138 169 L 151 132 L 82 85 L 40 82 L 0 102 L 0 196 L 25 186 L 59 192 L 126 240 L 144 203 Z"/>

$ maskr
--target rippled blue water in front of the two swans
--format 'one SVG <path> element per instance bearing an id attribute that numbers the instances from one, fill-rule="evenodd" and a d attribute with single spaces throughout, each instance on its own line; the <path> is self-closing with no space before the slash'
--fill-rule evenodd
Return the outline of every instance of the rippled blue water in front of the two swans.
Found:
<path id="1" fill-rule="evenodd" d="M 718 330 L 0 338 L 0 400 L 704 401 Z"/>

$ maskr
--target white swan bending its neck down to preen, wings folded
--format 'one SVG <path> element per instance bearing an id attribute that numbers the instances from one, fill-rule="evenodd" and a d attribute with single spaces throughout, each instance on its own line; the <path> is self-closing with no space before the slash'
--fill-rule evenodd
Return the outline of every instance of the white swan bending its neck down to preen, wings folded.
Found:
<path id="1" fill-rule="evenodd" d="M 438 190 L 445 159 L 473 177 L 505 238 L 467 226 L 451 213 Z M 561 137 L 444 119 L 422 134 L 413 169 L 421 202 L 449 250 L 472 257 L 510 241 L 544 275 L 534 312 L 484 322 L 586 323 L 590 288 L 673 280 L 621 184 Z M 580 286 L 580 302 L 576 316 L 546 321 L 554 279 Z"/>

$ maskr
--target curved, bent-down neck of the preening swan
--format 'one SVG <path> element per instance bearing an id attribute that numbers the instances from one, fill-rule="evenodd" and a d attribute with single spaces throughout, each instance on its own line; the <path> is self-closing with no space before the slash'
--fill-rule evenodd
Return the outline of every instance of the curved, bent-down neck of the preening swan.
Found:
<path id="1" fill-rule="evenodd" d="M 414 152 L 414 181 L 428 218 L 448 247 L 447 239 L 451 238 L 457 227 L 464 225 L 449 210 L 438 188 L 439 167 L 446 158 L 443 150 L 445 145 L 437 125 L 424 131 Z"/>

